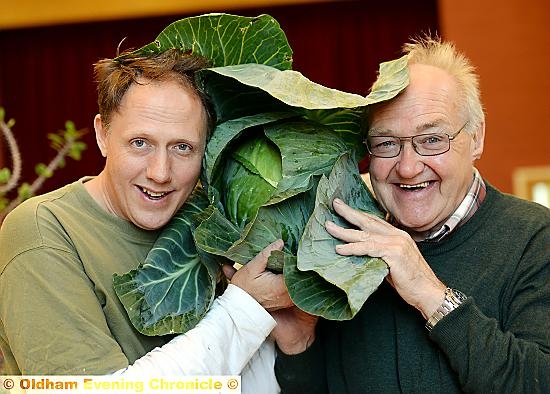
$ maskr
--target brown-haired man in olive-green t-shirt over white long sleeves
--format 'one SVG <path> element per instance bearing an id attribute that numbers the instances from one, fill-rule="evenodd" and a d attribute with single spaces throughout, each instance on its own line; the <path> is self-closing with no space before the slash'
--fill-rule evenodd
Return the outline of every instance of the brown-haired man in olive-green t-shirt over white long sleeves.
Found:
<path id="1" fill-rule="evenodd" d="M 5 373 L 243 373 L 246 380 L 255 358 L 255 376 L 264 373 L 276 388 L 273 357 L 257 351 L 269 354 L 262 344 L 275 326 L 264 307 L 291 304 L 281 275 L 265 271 L 282 241 L 235 273 L 198 326 L 174 338 L 140 334 L 113 290 L 112 275 L 144 261 L 195 188 L 212 127 L 208 100 L 194 82 L 205 66 L 177 50 L 95 65 L 94 128 L 105 167 L 24 202 L 0 231 Z"/>

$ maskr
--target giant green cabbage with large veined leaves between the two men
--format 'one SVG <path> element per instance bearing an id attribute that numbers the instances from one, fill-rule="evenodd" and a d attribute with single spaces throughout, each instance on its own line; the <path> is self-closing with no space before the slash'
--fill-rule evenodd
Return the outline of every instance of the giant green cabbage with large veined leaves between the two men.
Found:
<path id="1" fill-rule="evenodd" d="M 177 47 L 210 58 L 198 84 L 217 127 L 201 187 L 163 230 L 138 269 L 114 276 L 136 328 L 185 332 L 216 296 L 221 262 L 245 264 L 272 241 L 269 267 L 283 272 L 294 303 L 327 319 L 352 318 L 387 274 L 377 258 L 344 257 L 324 229 L 342 225 L 331 202 L 382 216 L 358 172 L 365 109 L 408 83 L 406 59 L 385 63 L 367 97 L 329 89 L 291 70 L 292 51 L 268 15 L 211 14 L 173 23 L 138 52 Z"/>

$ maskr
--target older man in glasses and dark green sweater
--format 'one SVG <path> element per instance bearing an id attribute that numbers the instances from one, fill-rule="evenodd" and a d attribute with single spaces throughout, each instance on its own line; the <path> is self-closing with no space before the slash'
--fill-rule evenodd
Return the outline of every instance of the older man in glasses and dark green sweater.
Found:
<path id="1" fill-rule="evenodd" d="M 383 258 L 387 281 L 351 321 L 320 321 L 315 332 L 301 314 L 294 331 L 276 332 L 279 383 L 549 392 L 550 211 L 499 192 L 474 167 L 485 121 L 468 59 L 430 37 L 405 52 L 410 84 L 368 114 L 370 180 L 388 222 L 335 200 L 352 228 L 326 224 L 339 254 Z M 530 143 L 518 133 L 518 149 Z"/>

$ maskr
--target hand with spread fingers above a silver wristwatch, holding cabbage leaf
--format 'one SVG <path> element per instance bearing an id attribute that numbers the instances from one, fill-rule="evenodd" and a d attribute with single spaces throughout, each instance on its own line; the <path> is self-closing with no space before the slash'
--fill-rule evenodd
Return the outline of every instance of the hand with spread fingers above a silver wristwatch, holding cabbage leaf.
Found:
<path id="1" fill-rule="evenodd" d="M 411 236 L 339 199 L 334 200 L 333 207 L 336 213 L 357 227 L 345 229 L 333 222 L 326 223 L 330 235 L 347 242 L 337 245 L 336 252 L 344 256 L 382 258 L 390 268 L 388 282 L 401 298 L 428 319 L 443 302 L 446 286 L 424 260 Z"/>

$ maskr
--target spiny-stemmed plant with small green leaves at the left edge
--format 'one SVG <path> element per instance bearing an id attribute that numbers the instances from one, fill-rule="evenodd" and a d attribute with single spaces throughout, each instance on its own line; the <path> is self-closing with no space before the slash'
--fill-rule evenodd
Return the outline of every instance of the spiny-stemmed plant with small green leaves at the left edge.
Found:
<path id="1" fill-rule="evenodd" d="M 77 130 L 73 122 L 67 121 L 65 123 L 65 130 L 48 134 L 50 146 L 57 152 L 55 157 L 47 165 L 44 163 L 36 164 L 35 172 L 37 177 L 32 183 L 19 183 L 23 161 L 17 141 L 12 132 L 14 125 L 15 121 L 13 119 L 5 121 L 5 111 L 0 107 L 0 129 L 7 142 L 12 158 L 11 170 L 8 167 L 0 169 L 0 224 L 4 221 L 6 215 L 16 206 L 35 195 L 46 179 L 53 176 L 55 170 L 65 166 L 66 157 L 80 160 L 82 151 L 86 149 L 86 144 L 80 141 L 85 131 Z M 16 196 L 12 199 L 8 198 L 8 193 L 15 190 L 15 188 L 17 188 Z"/>

